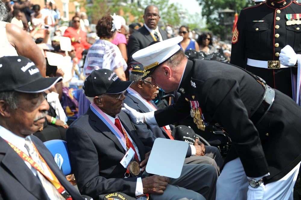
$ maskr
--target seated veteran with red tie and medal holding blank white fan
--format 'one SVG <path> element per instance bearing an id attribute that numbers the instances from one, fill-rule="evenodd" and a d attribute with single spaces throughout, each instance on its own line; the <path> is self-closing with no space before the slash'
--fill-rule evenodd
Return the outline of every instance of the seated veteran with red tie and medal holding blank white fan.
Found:
<path id="1" fill-rule="evenodd" d="M 178 179 L 141 178 L 140 168 L 145 171 L 151 148 L 143 145 L 129 116 L 121 111 L 123 93 L 131 83 L 121 81 L 109 69 L 96 69 L 85 80 L 83 89 L 91 105 L 67 129 L 80 192 L 95 199 L 114 191 L 132 197 L 149 194 L 153 200 L 215 199 L 217 175 L 212 165 L 184 165 Z M 135 169 L 127 169 L 121 162 L 130 152 L 134 152 L 130 166 L 136 163 Z"/>

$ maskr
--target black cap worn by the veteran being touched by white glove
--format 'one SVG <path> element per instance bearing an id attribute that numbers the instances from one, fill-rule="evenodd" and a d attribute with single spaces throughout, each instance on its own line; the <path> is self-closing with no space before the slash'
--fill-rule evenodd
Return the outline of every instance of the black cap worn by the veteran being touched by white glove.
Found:
<path id="1" fill-rule="evenodd" d="M 121 81 L 115 72 L 109 69 L 95 69 L 86 78 L 83 90 L 87 97 L 95 97 L 100 94 L 118 94 L 125 91 L 132 81 Z"/>

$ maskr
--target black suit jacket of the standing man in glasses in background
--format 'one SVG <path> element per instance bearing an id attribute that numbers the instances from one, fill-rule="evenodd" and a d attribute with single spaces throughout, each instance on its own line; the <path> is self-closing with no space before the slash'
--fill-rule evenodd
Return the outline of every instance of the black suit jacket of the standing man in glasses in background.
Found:
<path id="1" fill-rule="evenodd" d="M 167 32 L 159 28 L 159 32 L 163 40 L 167 40 Z M 140 49 L 146 48 L 151 42 L 154 42 L 154 38 L 150 32 L 142 26 L 130 35 L 129 42 L 127 43 L 127 51 L 129 54 L 129 63 L 133 61 L 132 55 Z"/>

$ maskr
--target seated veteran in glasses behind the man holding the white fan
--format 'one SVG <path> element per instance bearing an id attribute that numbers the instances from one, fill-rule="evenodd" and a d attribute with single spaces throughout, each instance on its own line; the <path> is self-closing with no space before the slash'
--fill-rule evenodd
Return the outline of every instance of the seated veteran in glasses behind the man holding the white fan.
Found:
<path id="1" fill-rule="evenodd" d="M 152 101 L 157 97 L 159 92 L 158 85 L 152 85 L 150 77 L 143 81 L 141 80 L 145 72 L 141 63 L 133 61 L 129 67 L 133 68 L 130 74 L 130 81 L 133 81 L 133 83 L 124 93 L 126 96 L 124 104 L 142 113 L 158 110 L 158 107 Z M 174 140 L 168 125 L 160 128 L 159 126 L 149 126 L 144 123 L 134 123 L 134 126 L 137 130 L 138 137 L 145 146 L 152 147 L 155 139 L 158 137 Z M 219 169 L 223 165 L 223 160 L 221 153 L 216 147 L 205 146 L 198 139 L 193 138 L 188 151 L 190 157 L 185 159 L 185 164 L 207 163 L 214 166 L 218 175 L 220 174 Z"/>

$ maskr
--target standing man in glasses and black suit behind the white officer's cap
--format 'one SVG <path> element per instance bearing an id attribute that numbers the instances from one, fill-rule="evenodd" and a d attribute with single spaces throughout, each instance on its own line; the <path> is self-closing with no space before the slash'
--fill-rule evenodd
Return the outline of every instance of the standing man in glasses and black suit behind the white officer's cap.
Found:
<path id="1" fill-rule="evenodd" d="M 155 5 L 148 5 L 144 10 L 144 26 L 130 35 L 127 43 L 129 54 L 129 63 L 133 61 L 132 55 L 143 48 L 146 48 L 151 42 L 166 40 L 167 32 L 160 29 L 157 25 L 160 20 L 159 9 Z"/>

